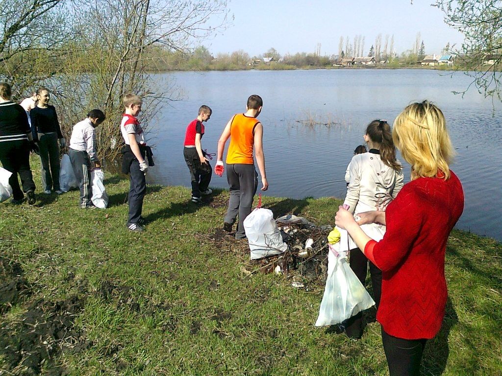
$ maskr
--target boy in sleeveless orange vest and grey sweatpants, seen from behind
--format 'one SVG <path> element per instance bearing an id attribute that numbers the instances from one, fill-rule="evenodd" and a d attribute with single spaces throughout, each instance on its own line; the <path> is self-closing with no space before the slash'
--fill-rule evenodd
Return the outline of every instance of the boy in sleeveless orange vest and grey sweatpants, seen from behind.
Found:
<path id="1" fill-rule="evenodd" d="M 252 95 L 247 98 L 246 112 L 236 114 L 228 121 L 218 141 L 218 158 L 214 172 L 222 176 L 224 171 L 223 151 L 225 143 L 230 137 L 226 156 L 226 178 L 230 187 L 230 200 L 223 220 L 223 229 L 231 232 L 238 214 L 239 222 L 235 239 L 246 237 L 242 223 L 251 213 L 253 198 L 258 189 L 258 173 L 255 168 L 253 149 L 262 176 L 263 187 L 261 190 L 267 191 L 269 189 L 263 153 L 263 125 L 257 120 L 262 107 L 263 100 L 260 96 Z"/>

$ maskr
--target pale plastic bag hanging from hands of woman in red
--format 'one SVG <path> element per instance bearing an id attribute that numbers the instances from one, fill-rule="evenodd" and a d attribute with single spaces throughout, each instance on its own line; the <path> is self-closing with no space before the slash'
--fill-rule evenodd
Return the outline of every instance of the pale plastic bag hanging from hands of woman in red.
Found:
<path id="1" fill-rule="evenodd" d="M 329 245 L 328 278 L 315 326 L 339 324 L 375 304 L 345 256 L 340 242 Z"/>

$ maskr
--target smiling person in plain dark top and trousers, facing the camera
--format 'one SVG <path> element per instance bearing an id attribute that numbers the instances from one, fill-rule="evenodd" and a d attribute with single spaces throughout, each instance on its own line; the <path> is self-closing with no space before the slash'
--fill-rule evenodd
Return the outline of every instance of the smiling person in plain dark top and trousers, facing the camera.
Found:
<path id="1" fill-rule="evenodd" d="M 59 187 L 59 146 L 66 142 L 61 133 L 58 115 L 54 106 L 49 104 L 49 91 L 46 88 L 37 90 L 37 107 L 30 111 L 33 140 L 40 147 L 42 164 L 42 187 L 44 193 L 50 194 L 54 189 L 58 195 L 63 192 Z"/>

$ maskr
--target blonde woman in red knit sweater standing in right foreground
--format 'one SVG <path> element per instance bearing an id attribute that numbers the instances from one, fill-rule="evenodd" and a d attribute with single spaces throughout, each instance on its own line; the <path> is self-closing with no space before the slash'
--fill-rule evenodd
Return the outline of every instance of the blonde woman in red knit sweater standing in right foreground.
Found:
<path id="1" fill-rule="evenodd" d="M 454 151 L 438 107 L 428 101 L 406 107 L 394 121 L 393 139 L 411 164 L 411 181 L 385 212 L 361 213 L 356 222 L 340 207 L 335 223 L 382 270 L 376 319 L 391 376 L 418 376 L 425 342 L 443 321 L 446 242 L 462 214 L 464 195 L 448 167 Z M 360 229 L 366 223 L 387 226 L 380 242 Z"/>

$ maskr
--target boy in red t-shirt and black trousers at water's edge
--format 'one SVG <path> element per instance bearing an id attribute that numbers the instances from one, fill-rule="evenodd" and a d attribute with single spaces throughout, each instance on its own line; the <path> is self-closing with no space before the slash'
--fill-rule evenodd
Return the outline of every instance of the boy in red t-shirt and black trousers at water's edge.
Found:
<path id="1" fill-rule="evenodd" d="M 208 106 L 199 108 L 199 115 L 195 120 L 188 124 L 183 156 L 187 163 L 190 177 L 192 179 L 192 202 L 200 203 L 201 195 L 209 195 L 213 191 L 209 189 L 212 169 L 206 154 L 202 151 L 200 140 L 204 135 L 203 122 L 209 120 L 212 110 Z"/>

